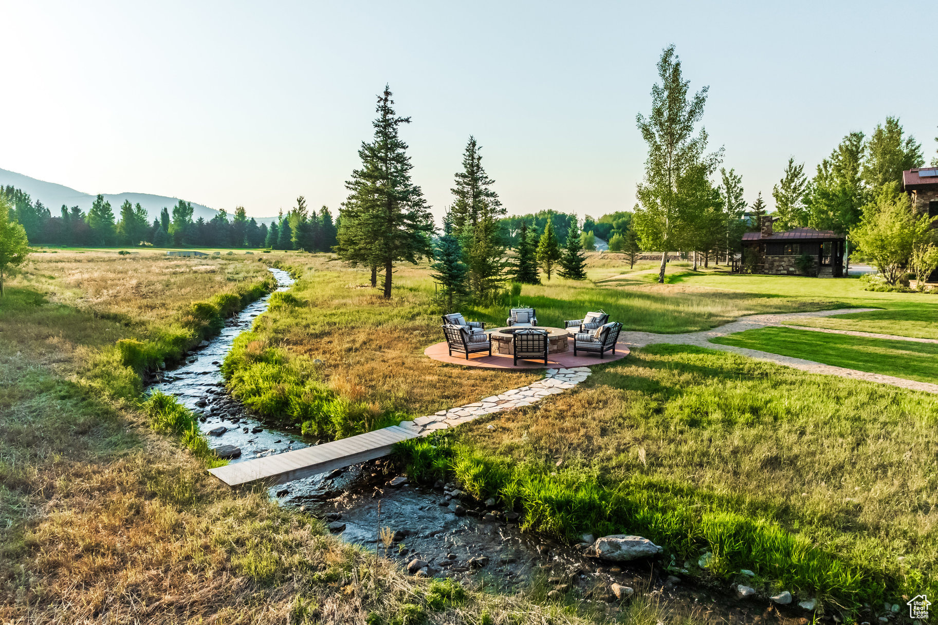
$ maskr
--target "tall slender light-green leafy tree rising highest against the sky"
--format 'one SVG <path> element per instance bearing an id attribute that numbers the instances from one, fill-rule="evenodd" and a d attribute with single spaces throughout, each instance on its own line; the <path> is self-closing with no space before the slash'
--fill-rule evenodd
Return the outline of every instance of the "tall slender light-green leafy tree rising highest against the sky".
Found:
<path id="1" fill-rule="evenodd" d="M 693 213 L 700 208 L 696 201 L 701 194 L 698 186 L 700 170 L 713 171 L 721 151 L 705 155 L 707 134 L 703 127 L 694 129 L 703 118 L 708 88 L 703 87 L 688 98 L 690 82 L 684 80 L 681 62 L 669 46 L 661 52 L 658 61 L 660 84 L 652 86 L 652 108 L 648 117 L 636 117 L 642 137 L 648 143 L 643 182 L 639 183 L 633 223 L 645 249 L 661 252 L 658 282 L 664 282 L 668 252 L 688 246 L 692 231 L 688 224 L 695 220 Z M 690 177 L 688 183 L 685 177 Z M 682 190 L 685 187 L 686 192 Z M 692 201 L 684 201 L 684 197 Z"/>

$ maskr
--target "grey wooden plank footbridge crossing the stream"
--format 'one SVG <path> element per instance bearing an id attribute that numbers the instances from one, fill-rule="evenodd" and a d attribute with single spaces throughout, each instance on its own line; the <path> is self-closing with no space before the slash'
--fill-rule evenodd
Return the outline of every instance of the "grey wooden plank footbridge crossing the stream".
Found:
<path id="1" fill-rule="evenodd" d="M 333 440 L 284 454 L 236 462 L 208 472 L 229 486 L 262 483 L 285 484 L 366 462 L 391 453 L 395 443 L 415 439 L 419 434 L 401 425 L 366 432 L 348 439 Z"/>

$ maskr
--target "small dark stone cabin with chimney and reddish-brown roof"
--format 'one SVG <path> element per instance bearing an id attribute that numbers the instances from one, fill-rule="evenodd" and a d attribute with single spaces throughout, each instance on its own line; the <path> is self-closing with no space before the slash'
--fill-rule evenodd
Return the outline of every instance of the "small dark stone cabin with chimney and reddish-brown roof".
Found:
<path id="1" fill-rule="evenodd" d="M 743 262 L 734 262 L 739 271 L 745 259 L 756 259 L 755 273 L 791 275 L 800 274 L 795 261 L 803 255 L 814 258 L 814 274 L 819 277 L 843 275 L 843 251 L 846 237 L 832 231 L 795 228 L 790 231 L 772 231 L 772 216 L 763 216 L 758 232 L 743 234 Z"/>

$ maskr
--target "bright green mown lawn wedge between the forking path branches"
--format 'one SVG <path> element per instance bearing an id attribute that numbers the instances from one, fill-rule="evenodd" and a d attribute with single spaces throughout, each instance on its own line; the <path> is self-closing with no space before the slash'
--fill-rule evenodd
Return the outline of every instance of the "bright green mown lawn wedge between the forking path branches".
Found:
<path id="1" fill-rule="evenodd" d="M 938 344 L 761 328 L 712 339 L 721 345 L 804 358 L 896 378 L 938 384 Z"/>

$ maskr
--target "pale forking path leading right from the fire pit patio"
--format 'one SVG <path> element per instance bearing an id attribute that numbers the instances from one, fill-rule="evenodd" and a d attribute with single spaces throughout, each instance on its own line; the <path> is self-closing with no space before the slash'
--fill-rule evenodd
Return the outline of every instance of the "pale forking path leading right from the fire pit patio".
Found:
<path id="1" fill-rule="evenodd" d="M 877 373 L 868 373 L 866 371 L 848 369 L 842 366 L 824 365 L 822 363 L 815 363 L 814 361 L 802 360 L 801 358 L 781 356 L 779 354 L 770 353 L 768 351 L 747 350 L 745 348 L 734 347 L 733 345 L 719 345 L 717 343 L 710 342 L 711 338 L 716 338 L 718 336 L 732 335 L 736 332 L 743 332 L 745 330 L 752 330 L 755 328 L 779 326 L 779 325 L 782 325 L 783 321 L 809 319 L 809 318 L 815 318 L 815 317 L 831 317 L 833 315 L 844 315 L 847 313 L 855 313 L 855 312 L 869 312 L 872 310 L 879 310 L 879 309 L 878 308 L 839 308 L 836 310 L 818 310 L 815 312 L 807 312 L 807 313 L 784 313 L 780 315 L 750 315 L 749 317 L 741 317 L 738 320 L 733 321 L 732 323 L 721 325 L 719 326 L 719 328 L 714 328 L 713 330 L 703 330 L 702 332 L 690 332 L 690 333 L 686 333 L 683 335 L 656 335 L 650 332 L 623 332 L 622 334 L 619 335 L 619 342 L 625 343 L 626 345 L 630 347 L 636 347 L 636 348 L 642 348 L 646 345 L 654 345 L 656 343 L 670 343 L 672 345 L 696 345 L 697 347 L 707 348 L 709 350 L 732 351 L 734 353 L 742 354 L 744 356 L 749 356 L 751 358 L 758 358 L 760 360 L 767 360 L 773 363 L 778 363 L 779 365 L 791 366 L 791 367 L 794 367 L 795 369 L 808 371 L 809 373 L 820 373 L 826 376 L 840 376 L 840 378 L 863 379 L 863 380 L 870 381 L 870 382 L 879 382 L 880 384 L 891 384 L 892 386 L 900 386 L 903 389 L 910 389 L 913 391 L 925 391 L 926 393 L 938 394 L 938 384 L 930 384 L 929 382 L 918 382 L 913 379 L 894 378 L 893 376 L 883 376 Z M 848 330 L 828 330 L 827 328 L 811 328 L 807 326 L 797 326 L 797 329 L 810 330 L 813 332 L 827 332 L 827 333 L 833 333 L 833 334 L 868 336 L 868 337 L 874 337 L 874 338 L 889 338 L 889 339 L 924 342 L 924 343 L 938 343 L 938 341 L 934 339 L 930 339 L 930 338 L 912 338 L 908 336 L 877 335 L 877 334 L 867 333 L 867 332 L 852 332 Z"/>

